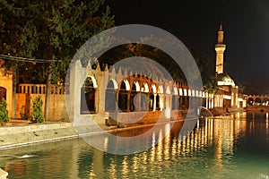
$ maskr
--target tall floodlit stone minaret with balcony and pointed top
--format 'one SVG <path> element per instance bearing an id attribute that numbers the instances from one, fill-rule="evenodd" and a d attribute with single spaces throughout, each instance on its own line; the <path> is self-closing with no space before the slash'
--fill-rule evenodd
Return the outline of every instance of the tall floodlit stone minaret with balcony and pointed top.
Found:
<path id="1" fill-rule="evenodd" d="M 218 31 L 218 43 L 215 45 L 216 51 L 216 72 L 218 74 L 223 73 L 223 54 L 226 48 L 226 45 L 223 44 L 223 30 L 222 24 L 220 25 L 220 29 Z"/>

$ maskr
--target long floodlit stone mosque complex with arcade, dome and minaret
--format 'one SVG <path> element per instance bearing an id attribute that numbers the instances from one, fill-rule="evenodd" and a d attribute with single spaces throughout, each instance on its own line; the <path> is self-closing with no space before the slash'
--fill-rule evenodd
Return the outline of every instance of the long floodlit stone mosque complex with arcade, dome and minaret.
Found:
<path id="1" fill-rule="evenodd" d="M 137 110 L 135 114 L 143 115 L 146 110 L 147 101 L 143 98 L 148 98 L 150 111 L 147 121 L 152 116 L 162 116 L 162 118 L 177 118 L 178 110 L 184 112 L 189 105 L 190 100 L 203 100 L 203 106 L 213 112 L 213 115 L 230 114 L 239 112 L 247 107 L 246 98 L 244 95 L 239 94 L 239 88 L 230 76 L 224 72 L 223 60 L 224 51 L 226 45 L 224 44 L 224 32 L 222 25 L 218 30 L 217 44 L 215 45 L 216 51 L 216 75 L 218 80 L 218 92 L 216 94 L 209 94 L 201 89 L 195 89 L 195 87 L 189 87 L 185 83 L 165 82 L 161 79 L 156 81 L 150 81 L 140 73 L 126 72 L 124 70 L 112 69 L 108 72 L 108 67 L 104 71 L 100 70 L 99 64 L 96 69 L 92 69 L 91 73 L 87 74 L 86 81 L 89 80 L 89 84 L 83 85 L 77 84 L 77 81 L 84 81 L 86 78 L 78 78 L 82 64 L 76 62 L 72 64 L 70 75 L 72 78 L 70 81 L 70 89 L 67 93 L 71 99 L 74 115 L 80 116 L 83 120 L 87 117 L 94 116 L 99 119 L 100 123 L 103 123 L 105 116 L 115 115 L 111 111 L 115 111 L 115 108 L 120 108 L 122 113 L 117 113 L 117 118 L 129 118 L 128 116 L 134 112 L 134 96 L 137 94 Z M 0 61 L 0 98 L 4 98 L 7 101 L 7 109 L 10 117 L 20 118 L 21 113 L 30 113 L 30 104 L 33 98 L 38 95 L 45 101 L 46 84 L 19 84 L 17 87 L 17 93 L 13 96 L 13 72 L 7 71 Z M 91 64 L 91 63 L 89 63 Z M 86 68 L 85 68 L 86 69 Z M 85 70 L 84 68 L 82 70 Z M 90 67 L 89 67 L 90 69 Z M 108 77 L 105 74 L 108 73 Z M 126 77 L 127 78 L 124 78 Z M 104 88 L 102 86 L 101 79 L 105 78 Z M 71 88 L 72 87 L 72 88 Z M 79 88 L 78 88 L 79 87 Z M 100 96 L 100 90 L 103 90 L 104 98 Z M 48 118 L 52 120 L 67 119 L 68 116 L 65 110 L 65 93 L 66 91 L 62 86 L 51 85 L 51 97 L 49 102 L 49 115 Z M 112 94 L 113 102 L 110 97 Z M 86 100 L 86 103 L 83 101 Z M 16 101 L 16 103 L 14 103 Z M 101 102 L 103 101 L 103 102 Z M 112 104 L 110 104 L 112 101 Z M 141 106 L 141 108 L 139 108 Z M 111 108 L 112 107 L 112 108 Z M 145 107 L 145 109 L 144 109 Z M 189 109 L 195 110 L 195 107 L 189 107 Z M 86 111 L 86 112 L 85 112 Z M 164 113 L 163 113 L 164 111 Z M 175 117 L 176 116 L 176 117 Z"/>

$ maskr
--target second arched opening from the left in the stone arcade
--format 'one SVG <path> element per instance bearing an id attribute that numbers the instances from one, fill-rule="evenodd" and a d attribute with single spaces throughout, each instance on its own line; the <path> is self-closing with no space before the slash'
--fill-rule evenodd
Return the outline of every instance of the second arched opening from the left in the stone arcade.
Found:
<path id="1" fill-rule="evenodd" d="M 108 81 L 106 89 L 106 99 L 105 99 L 105 111 L 107 112 L 116 111 L 117 107 L 116 89 L 117 89 L 117 82 L 115 80 Z"/>

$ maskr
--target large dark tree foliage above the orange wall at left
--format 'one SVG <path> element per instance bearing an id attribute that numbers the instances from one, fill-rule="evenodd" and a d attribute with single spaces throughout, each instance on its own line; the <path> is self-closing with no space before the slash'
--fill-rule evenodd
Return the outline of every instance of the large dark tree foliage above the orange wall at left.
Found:
<path id="1" fill-rule="evenodd" d="M 113 26 L 105 0 L 0 0 L 0 53 L 56 60 L 51 73 L 63 82 L 75 52 L 93 35 Z M 8 61 L 10 68 L 15 63 Z M 48 64 L 19 62 L 22 82 L 46 81 Z"/>

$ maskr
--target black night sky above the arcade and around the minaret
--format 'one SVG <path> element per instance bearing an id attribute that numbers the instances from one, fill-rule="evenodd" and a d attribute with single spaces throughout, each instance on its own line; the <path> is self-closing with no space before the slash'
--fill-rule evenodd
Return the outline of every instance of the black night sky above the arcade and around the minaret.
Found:
<path id="1" fill-rule="evenodd" d="M 116 0 L 108 1 L 108 5 L 116 25 L 159 27 L 213 59 L 222 22 L 227 45 L 224 71 L 236 83 L 269 77 L 268 0 Z"/>

